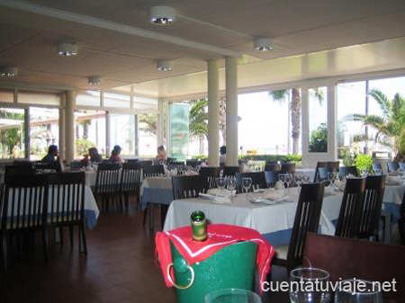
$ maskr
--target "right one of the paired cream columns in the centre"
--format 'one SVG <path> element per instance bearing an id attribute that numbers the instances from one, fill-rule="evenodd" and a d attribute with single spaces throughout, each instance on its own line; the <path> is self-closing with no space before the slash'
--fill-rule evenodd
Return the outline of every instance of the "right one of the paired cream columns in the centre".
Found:
<path id="1" fill-rule="evenodd" d="M 238 166 L 238 58 L 225 59 L 227 94 L 227 156 L 225 165 Z"/>

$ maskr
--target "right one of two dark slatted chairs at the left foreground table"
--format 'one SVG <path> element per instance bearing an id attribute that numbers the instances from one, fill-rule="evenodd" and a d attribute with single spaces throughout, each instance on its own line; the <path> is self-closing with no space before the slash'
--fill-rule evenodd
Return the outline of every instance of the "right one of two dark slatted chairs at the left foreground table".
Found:
<path id="1" fill-rule="evenodd" d="M 58 227 L 63 245 L 63 227 L 69 228 L 73 248 L 73 229 L 78 227 L 79 253 L 85 241 L 85 172 L 49 174 L 48 227 Z"/>

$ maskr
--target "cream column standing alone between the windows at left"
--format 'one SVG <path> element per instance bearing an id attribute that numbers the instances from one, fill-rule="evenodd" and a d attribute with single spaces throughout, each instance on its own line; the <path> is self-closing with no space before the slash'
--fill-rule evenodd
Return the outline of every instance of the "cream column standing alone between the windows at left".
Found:
<path id="1" fill-rule="evenodd" d="M 67 91 L 65 107 L 65 160 L 67 163 L 75 158 L 75 103 L 76 92 Z"/>

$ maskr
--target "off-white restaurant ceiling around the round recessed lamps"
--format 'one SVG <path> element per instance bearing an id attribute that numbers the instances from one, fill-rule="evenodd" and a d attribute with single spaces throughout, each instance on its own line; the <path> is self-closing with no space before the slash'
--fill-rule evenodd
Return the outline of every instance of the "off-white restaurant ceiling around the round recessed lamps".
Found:
<path id="1" fill-rule="evenodd" d="M 35 7 L 36 13 L 18 9 L 14 4 Z M 257 82 L 262 82 L 258 78 L 261 73 L 249 75 L 252 69 L 247 66 L 277 66 L 285 75 L 277 80 L 293 81 L 294 74 L 283 71 L 292 70 L 285 65 L 294 60 L 287 57 L 322 50 L 333 53 L 350 45 L 405 36 L 403 0 L 166 0 L 164 4 L 175 7 L 178 13 L 177 21 L 168 27 L 148 23 L 148 9 L 155 4 L 162 2 L 0 0 L 0 66 L 19 67 L 19 76 L 13 80 L 18 83 L 87 89 L 90 86 L 86 77 L 96 75 L 103 76 L 101 88 L 110 88 L 201 72 L 206 68 L 206 59 L 223 58 L 221 51 L 224 50 L 267 59 L 239 68 L 239 77 L 245 76 L 250 79 L 247 82 L 258 85 Z M 41 13 L 46 8 L 59 11 L 49 16 Z M 109 24 L 115 24 L 117 30 L 105 30 L 96 22 L 85 25 L 62 20 L 59 16 L 63 13 L 70 17 L 98 18 L 101 23 L 113 22 Z M 160 36 L 140 37 L 123 32 L 126 27 Z M 257 36 L 274 38 L 275 50 L 267 53 L 253 50 L 252 37 Z M 159 37 L 165 38 L 164 41 Z M 59 41 L 76 41 L 80 46 L 79 55 L 59 58 L 56 54 Z M 396 43 L 402 45 L 403 40 Z M 403 60 L 393 59 L 395 50 L 378 49 L 391 48 L 391 44 L 378 45 L 375 44 L 377 49 L 367 50 L 373 53 L 373 60 L 367 64 L 374 65 L 374 69 L 404 67 Z M 351 51 L 350 48 L 340 50 L 334 57 L 340 58 L 341 54 Z M 380 51 L 383 55 L 376 56 Z M 402 54 L 397 53 L 397 57 L 403 57 Z M 307 61 L 309 70 L 320 64 L 319 55 L 312 57 L 317 59 Z M 157 71 L 156 59 L 174 59 L 175 70 Z M 383 59 L 384 64 L 381 64 Z M 338 67 L 328 67 L 330 70 L 327 68 L 326 72 L 333 74 L 343 69 L 350 72 L 350 67 L 344 63 L 345 60 L 338 60 L 335 63 Z M 0 84 L 4 81 L 0 80 Z"/>

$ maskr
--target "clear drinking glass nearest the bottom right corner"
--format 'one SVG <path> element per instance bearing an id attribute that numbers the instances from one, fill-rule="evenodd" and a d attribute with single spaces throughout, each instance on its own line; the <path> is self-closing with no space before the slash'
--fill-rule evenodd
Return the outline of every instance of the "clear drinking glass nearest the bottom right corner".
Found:
<path id="1" fill-rule="evenodd" d="M 344 280 L 338 282 L 335 303 L 382 303 L 383 295 L 371 281 Z"/>

